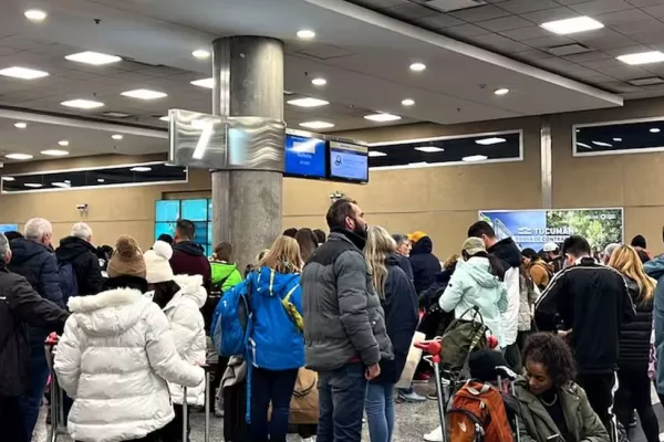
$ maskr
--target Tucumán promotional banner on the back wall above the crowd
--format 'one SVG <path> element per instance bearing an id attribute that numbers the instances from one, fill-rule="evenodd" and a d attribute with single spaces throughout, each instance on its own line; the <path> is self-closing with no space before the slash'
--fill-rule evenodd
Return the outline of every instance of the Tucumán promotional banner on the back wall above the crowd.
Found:
<path id="1" fill-rule="evenodd" d="M 623 243 L 623 209 L 486 210 L 479 219 L 494 227 L 499 240 L 511 236 L 520 249 L 540 251 L 546 243 L 562 244 L 577 234 L 593 250 Z"/>

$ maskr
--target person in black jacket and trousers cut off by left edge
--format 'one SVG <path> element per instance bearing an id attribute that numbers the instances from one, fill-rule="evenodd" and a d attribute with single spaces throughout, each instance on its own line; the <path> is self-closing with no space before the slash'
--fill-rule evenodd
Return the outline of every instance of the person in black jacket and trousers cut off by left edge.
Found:
<path id="1" fill-rule="evenodd" d="M 2 440 L 30 442 L 20 398 L 30 389 L 30 344 L 25 324 L 60 330 L 69 314 L 40 296 L 7 269 L 11 250 L 0 233 L 0 430 Z M 42 343 L 42 352 L 43 352 Z"/>

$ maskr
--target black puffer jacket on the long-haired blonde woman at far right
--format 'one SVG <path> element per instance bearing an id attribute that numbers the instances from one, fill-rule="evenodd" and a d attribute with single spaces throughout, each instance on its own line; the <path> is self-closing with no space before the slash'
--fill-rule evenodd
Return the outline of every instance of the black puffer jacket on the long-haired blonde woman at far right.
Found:
<path id="1" fill-rule="evenodd" d="M 646 304 L 639 302 L 641 295 L 639 284 L 627 276 L 625 276 L 625 281 L 636 308 L 636 316 L 631 323 L 624 324 L 620 332 L 618 367 L 646 372 L 653 330 L 653 301 L 651 299 Z"/>

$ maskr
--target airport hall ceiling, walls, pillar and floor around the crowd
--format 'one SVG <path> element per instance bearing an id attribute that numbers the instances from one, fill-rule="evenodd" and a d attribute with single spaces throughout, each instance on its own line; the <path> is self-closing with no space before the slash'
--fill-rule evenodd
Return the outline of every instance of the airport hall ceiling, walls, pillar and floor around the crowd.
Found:
<path id="1" fill-rule="evenodd" d="M 658 255 L 663 170 L 664 0 L 0 2 L 0 231 L 43 218 L 54 246 L 84 222 L 147 251 L 188 219 L 245 269 L 350 198 L 440 262 L 478 220 Z M 395 414 L 394 441 L 439 424 Z"/>

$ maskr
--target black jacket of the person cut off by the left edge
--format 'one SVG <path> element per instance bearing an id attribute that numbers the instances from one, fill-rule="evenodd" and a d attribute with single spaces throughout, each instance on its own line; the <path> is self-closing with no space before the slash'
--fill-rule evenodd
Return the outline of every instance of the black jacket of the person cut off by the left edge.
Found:
<path id="1" fill-rule="evenodd" d="M 68 316 L 0 263 L 0 397 L 22 396 L 30 387 L 27 325 L 61 332 Z"/>

